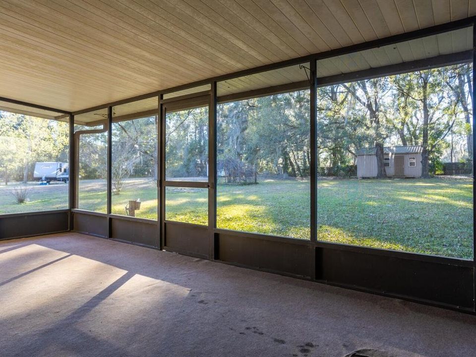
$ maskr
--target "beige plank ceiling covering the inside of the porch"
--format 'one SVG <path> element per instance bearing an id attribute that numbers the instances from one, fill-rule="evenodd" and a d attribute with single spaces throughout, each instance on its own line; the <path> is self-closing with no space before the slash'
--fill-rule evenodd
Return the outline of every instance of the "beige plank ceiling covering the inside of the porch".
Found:
<path id="1" fill-rule="evenodd" d="M 0 96 L 76 111 L 475 14 L 476 0 L 2 0 Z"/>

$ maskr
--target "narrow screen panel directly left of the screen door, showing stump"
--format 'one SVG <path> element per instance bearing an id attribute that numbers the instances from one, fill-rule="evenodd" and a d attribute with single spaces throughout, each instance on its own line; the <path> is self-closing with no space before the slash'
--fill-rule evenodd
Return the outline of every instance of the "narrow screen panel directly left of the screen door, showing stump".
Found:
<path id="1" fill-rule="evenodd" d="M 111 213 L 157 220 L 158 97 L 113 107 Z"/>

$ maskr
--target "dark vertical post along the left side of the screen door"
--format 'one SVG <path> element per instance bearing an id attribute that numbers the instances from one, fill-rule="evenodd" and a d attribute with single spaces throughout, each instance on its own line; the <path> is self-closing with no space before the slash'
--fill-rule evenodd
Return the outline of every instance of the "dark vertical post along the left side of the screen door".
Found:
<path id="1" fill-rule="evenodd" d="M 162 209 L 165 207 L 165 200 L 162 200 L 164 194 L 162 192 L 162 186 L 164 185 L 164 180 L 162 179 L 162 152 L 165 150 L 162 144 L 162 113 L 164 112 L 162 99 L 164 98 L 163 94 L 159 95 L 159 113 L 157 114 L 157 224 L 159 225 L 159 235 L 157 237 L 157 246 L 159 249 L 164 249 L 164 210 Z"/>

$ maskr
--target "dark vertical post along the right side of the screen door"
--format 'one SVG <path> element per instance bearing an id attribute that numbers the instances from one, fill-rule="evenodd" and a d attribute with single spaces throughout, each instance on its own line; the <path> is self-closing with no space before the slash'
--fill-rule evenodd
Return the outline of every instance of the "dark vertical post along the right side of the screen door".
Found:
<path id="1" fill-rule="evenodd" d="M 211 83 L 208 108 L 208 232 L 209 259 L 215 259 L 215 228 L 217 227 L 217 82 Z"/>

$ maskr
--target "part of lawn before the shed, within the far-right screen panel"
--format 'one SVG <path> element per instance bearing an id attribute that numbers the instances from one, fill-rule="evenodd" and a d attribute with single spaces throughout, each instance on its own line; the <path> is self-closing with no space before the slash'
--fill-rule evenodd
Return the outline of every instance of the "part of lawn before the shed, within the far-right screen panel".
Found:
<path id="1" fill-rule="evenodd" d="M 317 188 L 320 240 L 473 257 L 473 183 L 331 180 Z"/>

